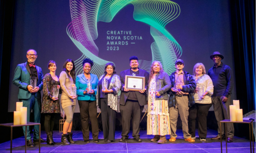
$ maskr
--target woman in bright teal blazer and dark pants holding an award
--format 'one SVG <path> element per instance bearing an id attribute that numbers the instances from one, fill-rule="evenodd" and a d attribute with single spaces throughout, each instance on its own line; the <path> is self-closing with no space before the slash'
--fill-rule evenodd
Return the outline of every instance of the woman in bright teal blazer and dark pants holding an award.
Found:
<path id="1" fill-rule="evenodd" d="M 80 108 L 82 132 L 85 143 L 89 143 L 89 126 L 88 117 L 91 121 L 91 132 L 93 142 L 99 142 L 98 135 L 98 120 L 97 120 L 97 105 L 96 105 L 96 93 L 98 78 L 96 75 L 91 74 L 90 70 L 93 66 L 93 61 L 85 59 L 83 61 L 84 73 L 77 76 L 76 87 L 77 87 L 77 99 Z M 87 88 L 87 83 L 91 83 L 91 91 Z"/>

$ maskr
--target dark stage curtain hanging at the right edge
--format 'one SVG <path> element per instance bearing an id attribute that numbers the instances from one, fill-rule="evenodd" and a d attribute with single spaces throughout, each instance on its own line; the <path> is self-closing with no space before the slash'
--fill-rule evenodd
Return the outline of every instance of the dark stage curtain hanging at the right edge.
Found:
<path id="1" fill-rule="evenodd" d="M 230 0 L 236 92 L 243 114 L 255 110 L 255 0 Z"/>

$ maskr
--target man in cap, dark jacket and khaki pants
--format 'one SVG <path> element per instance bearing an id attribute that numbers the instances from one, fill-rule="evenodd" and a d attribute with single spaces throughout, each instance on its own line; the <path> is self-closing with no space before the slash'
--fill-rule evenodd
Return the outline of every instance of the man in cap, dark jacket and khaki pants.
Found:
<path id="1" fill-rule="evenodd" d="M 193 92 L 196 89 L 196 82 L 192 75 L 183 71 L 184 61 L 175 61 L 176 71 L 170 76 L 171 89 L 169 90 L 169 114 L 171 125 L 171 138 L 169 141 L 176 140 L 176 126 L 178 115 L 182 121 L 183 137 L 186 141 L 195 142 L 188 133 L 188 109 L 195 104 Z"/>

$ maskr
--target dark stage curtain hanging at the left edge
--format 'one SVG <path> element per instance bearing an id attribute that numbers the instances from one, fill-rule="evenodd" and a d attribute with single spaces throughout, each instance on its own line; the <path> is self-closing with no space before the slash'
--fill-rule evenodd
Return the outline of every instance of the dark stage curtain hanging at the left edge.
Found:
<path id="1" fill-rule="evenodd" d="M 0 123 L 13 122 L 13 113 L 8 113 L 8 95 L 14 1 L 0 0 Z M 22 136 L 22 130 L 17 128 L 13 138 Z M 0 131 L 0 143 L 10 140 L 10 128 L 0 126 Z"/>

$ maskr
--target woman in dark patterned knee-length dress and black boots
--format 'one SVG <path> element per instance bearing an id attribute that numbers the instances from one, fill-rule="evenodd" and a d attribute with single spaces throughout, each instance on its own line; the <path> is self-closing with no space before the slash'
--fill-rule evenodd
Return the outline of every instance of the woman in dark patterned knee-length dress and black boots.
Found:
<path id="1" fill-rule="evenodd" d="M 60 113 L 59 94 L 58 96 L 53 96 L 54 89 L 59 90 L 59 93 L 61 93 L 59 77 L 55 75 L 56 68 L 55 61 L 49 61 L 48 69 L 50 70 L 50 73 L 45 74 L 43 77 L 43 101 L 41 113 L 44 113 L 44 128 L 47 134 L 46 142 L 48 145 L 55 144 L 52 138 L 52 130 L 55 116 L 57 113 Z"/>

